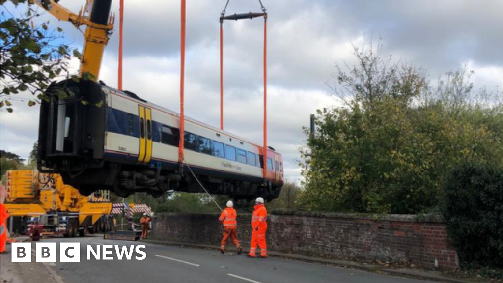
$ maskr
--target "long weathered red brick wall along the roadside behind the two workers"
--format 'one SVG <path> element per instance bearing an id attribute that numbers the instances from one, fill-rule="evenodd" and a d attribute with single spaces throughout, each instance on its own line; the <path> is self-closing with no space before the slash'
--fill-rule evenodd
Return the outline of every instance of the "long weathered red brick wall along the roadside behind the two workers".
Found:
<path id="1" fill-rule="evenodd" d="M 238 236 L 250 239 L 249 214 L 238 213 Z M 438 216 L 320 214 L 274 211 L 269 218 L 268 249 L 350 260 L 410 262 L 440 268 L 458 266 Z M 156 240 L 220 243 L 218 215 L 159 214 L 153 223 Z M 229 243 L 230 244 L 230 243 Z"/>

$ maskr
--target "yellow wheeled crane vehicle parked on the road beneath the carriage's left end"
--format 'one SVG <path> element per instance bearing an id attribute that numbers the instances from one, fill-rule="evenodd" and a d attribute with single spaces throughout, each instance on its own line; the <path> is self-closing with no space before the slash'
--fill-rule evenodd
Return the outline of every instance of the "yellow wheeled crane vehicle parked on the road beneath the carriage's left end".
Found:
<path id="1" fill-rule="evenodd" d="M 112 229 L 108 191 L 83 196 L 58 174 L 32 170 L 7 172 L 6 207 L 11 217 L 31 217 L 44 225 L 45 235 L 85 236 Z"/>

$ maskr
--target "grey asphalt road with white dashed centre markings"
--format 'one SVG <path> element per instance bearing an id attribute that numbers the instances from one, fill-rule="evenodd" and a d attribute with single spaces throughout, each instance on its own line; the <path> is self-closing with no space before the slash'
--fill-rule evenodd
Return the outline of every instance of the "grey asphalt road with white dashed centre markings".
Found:
<path id="1" fill-rule="evenodd" d="M 330 283 L 414 283 L 431 282 L 391 275 L 345 269 L 269 257 L 247 258 L 241 255 L 220 255 L 218 251 L 164 246 L 142 242 L 104 240 L 99 237 L 44 239 L 56 242 L 56 263 L 47 264 L 65 283 L 152 283 L 152 282 L 330 282 Z M 80 262 L 59 262 L 59 242 L 80 242 Z M 91 260 L 86 258 L 86 245 L 146 246 L 145 260 Z M 35 243 L 32 244 L 35 250 Z M 140 256 L 139 254 L 133 254 Z M 33 257 L 33 261 L 35 258 Z M 61 280 L 60 280 L 61 281 Z M 61 282 L 60 282 L 61 283 Z"/>

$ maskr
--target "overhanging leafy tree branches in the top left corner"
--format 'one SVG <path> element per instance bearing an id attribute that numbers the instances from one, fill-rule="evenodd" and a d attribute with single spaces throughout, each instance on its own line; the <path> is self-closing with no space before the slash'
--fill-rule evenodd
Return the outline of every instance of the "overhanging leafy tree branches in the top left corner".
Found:
<path id="1" fill-rule="evenodd" d="M 18 5 L 26 0 L 10 2 Z M 25 100 L 14 95 L 30 93 L 33 98 L 27 98 L 29 106 L 36 105 L 41 99 L 47 100 L 44 93 L 50 83 L 57 76 L 68 76 L 70 53 L 77 57 L 80 54 L 61 43 L 61 28 L 50 30 L 48 22 L 35 24 L 40 14 L 31 6 L 27 6 L 20 15 L 14 15 L 6 5 L 7 0 L 1 3 L 0 107 L 12 112 L 12 101 Z M 64 92 L 55 91 L 66 97 Z"/>

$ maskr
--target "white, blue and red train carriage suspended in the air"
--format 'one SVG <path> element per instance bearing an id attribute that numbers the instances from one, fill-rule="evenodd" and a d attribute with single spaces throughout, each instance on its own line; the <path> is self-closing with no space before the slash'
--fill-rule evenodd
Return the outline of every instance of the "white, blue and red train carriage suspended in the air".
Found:
<path id="1" fill-rule="evenodd" d="M 54 95 L 61 89 L 73 96 Z M 83 194 L 103 186 L 122 196 L 202 192 L 189 165 L 211 193 L 235 199 L 279 195 L 283 159 L 272 148 L 264 178 L 261 146 L 186 118 L 186 163 L 180 164 L 178 113 L 87 80 L 54 84 L 48 94 L 40 111 L 39 170 L 60 173 Z"/>

